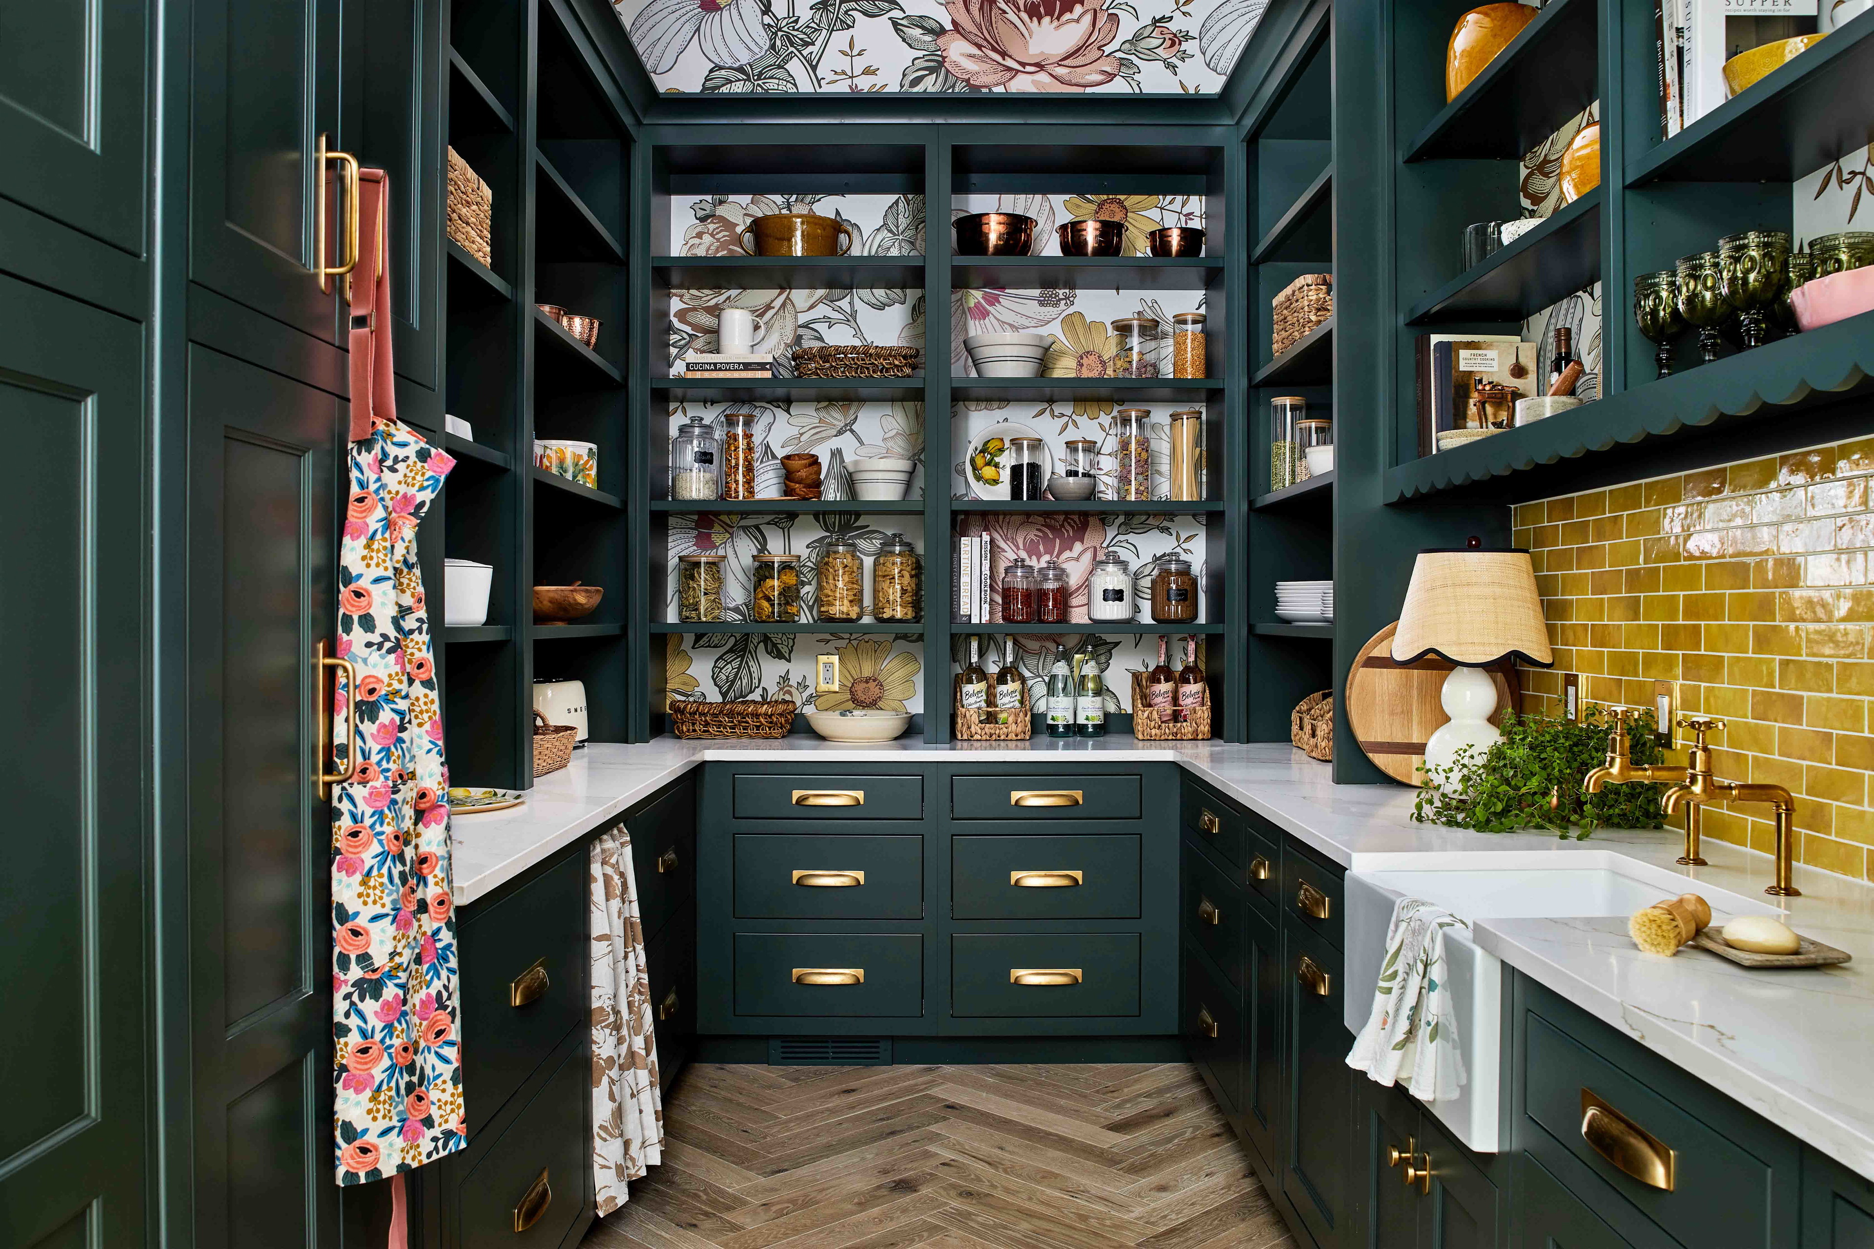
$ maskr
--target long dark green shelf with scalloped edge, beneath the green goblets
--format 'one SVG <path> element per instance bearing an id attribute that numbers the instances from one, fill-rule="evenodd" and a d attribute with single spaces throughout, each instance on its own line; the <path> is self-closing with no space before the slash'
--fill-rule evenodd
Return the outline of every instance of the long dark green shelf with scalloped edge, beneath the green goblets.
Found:
<path id="1" fill-rule="evenodd" d="M 1692 354 L 1687 339 L 1681 358 Z M 1580 479 L 1632 481 L 1655 472 L 1690 466 L 1642 464 L 1653 449 L 1673 440 L 1703 436 L 1707 427 L 1737 433 L 1762 431 L 1745 455 L 1767 455 L 1827 442 L 1837 433 L 1818 433 L 1799 419 L 1807 410 L 1833 408 L 1844 397 L 1874 389 L 1874 313 L 1778 339 L 1750 352 L 1668 378 L 1658 378 L 1589 403 L 1565 419 L 1535 421 L 1501 434 L 1387 470 L 1385 502 L 1430 498 L 1447 492 L 1479 492 L 1495 502 L 1525 502 L 1587 489 Z M 1865 423 L 1874 416 L 1853 406 Z M 1720 463 L 1720 461 L 1707 461 Z"/>

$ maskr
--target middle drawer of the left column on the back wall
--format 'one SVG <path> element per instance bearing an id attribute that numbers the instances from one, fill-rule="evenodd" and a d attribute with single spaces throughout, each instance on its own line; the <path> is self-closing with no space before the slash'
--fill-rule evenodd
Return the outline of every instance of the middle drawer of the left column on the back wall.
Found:
<path id="1" fill-rule="evenodd" d="M 744 919 L 922 919 L 924 837 L 825 833 L 735 839 Z"/>

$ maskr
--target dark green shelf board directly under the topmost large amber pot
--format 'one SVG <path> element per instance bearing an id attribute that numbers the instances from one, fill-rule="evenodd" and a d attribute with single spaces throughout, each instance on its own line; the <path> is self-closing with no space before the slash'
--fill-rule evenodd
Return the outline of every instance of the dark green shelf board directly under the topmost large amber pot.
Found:
<path id="1" fill-rule="evenodd" d="M 1550 0 L 1509 47 L 1406 144 L 1406 161 L 1520 161 L 1593 103 L 1597 0 Z M 1651 54 L 1651 43 L 1647 45 Z"/>

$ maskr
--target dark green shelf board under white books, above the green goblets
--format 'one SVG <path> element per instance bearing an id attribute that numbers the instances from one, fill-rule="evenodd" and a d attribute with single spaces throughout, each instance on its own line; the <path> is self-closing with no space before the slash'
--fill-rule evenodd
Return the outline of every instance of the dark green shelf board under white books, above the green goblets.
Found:
<path id="1" fill-rule="evenodd" d="M 1795 182 L 1874 140 L 1874 15 L 1627 161 L 1647 182 Z"/>

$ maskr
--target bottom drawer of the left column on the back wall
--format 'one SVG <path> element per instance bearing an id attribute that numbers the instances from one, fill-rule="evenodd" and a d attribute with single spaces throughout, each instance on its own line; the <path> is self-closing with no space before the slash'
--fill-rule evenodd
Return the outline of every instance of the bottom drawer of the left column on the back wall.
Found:
<path id="1" fill-rule="evenodd" d="M 830 979 L 849 983 L 813 983 Z M 922 1015 L 924 938 L 915 933 L 736 933 L 735 1013 Z"/>

